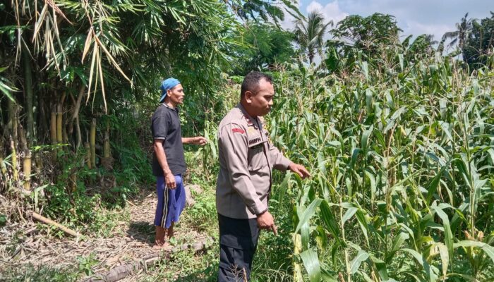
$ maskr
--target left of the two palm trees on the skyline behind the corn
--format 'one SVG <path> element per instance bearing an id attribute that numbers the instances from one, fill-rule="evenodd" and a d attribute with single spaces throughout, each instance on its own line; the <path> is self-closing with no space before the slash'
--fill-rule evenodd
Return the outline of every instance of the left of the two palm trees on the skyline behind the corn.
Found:
<path id="1" fill-rule="evenodd" d="M 318 11 L 309 13 L 307 20 L 295 21 L 295 40 L 300 45 L 301 51 L 307 54 L 309 63 L 314 61 L 316 53 L 323 57 L 324 36 L 327 27 L 333 25 L 332 20 L 324 22 L 324 16 Z"/>

